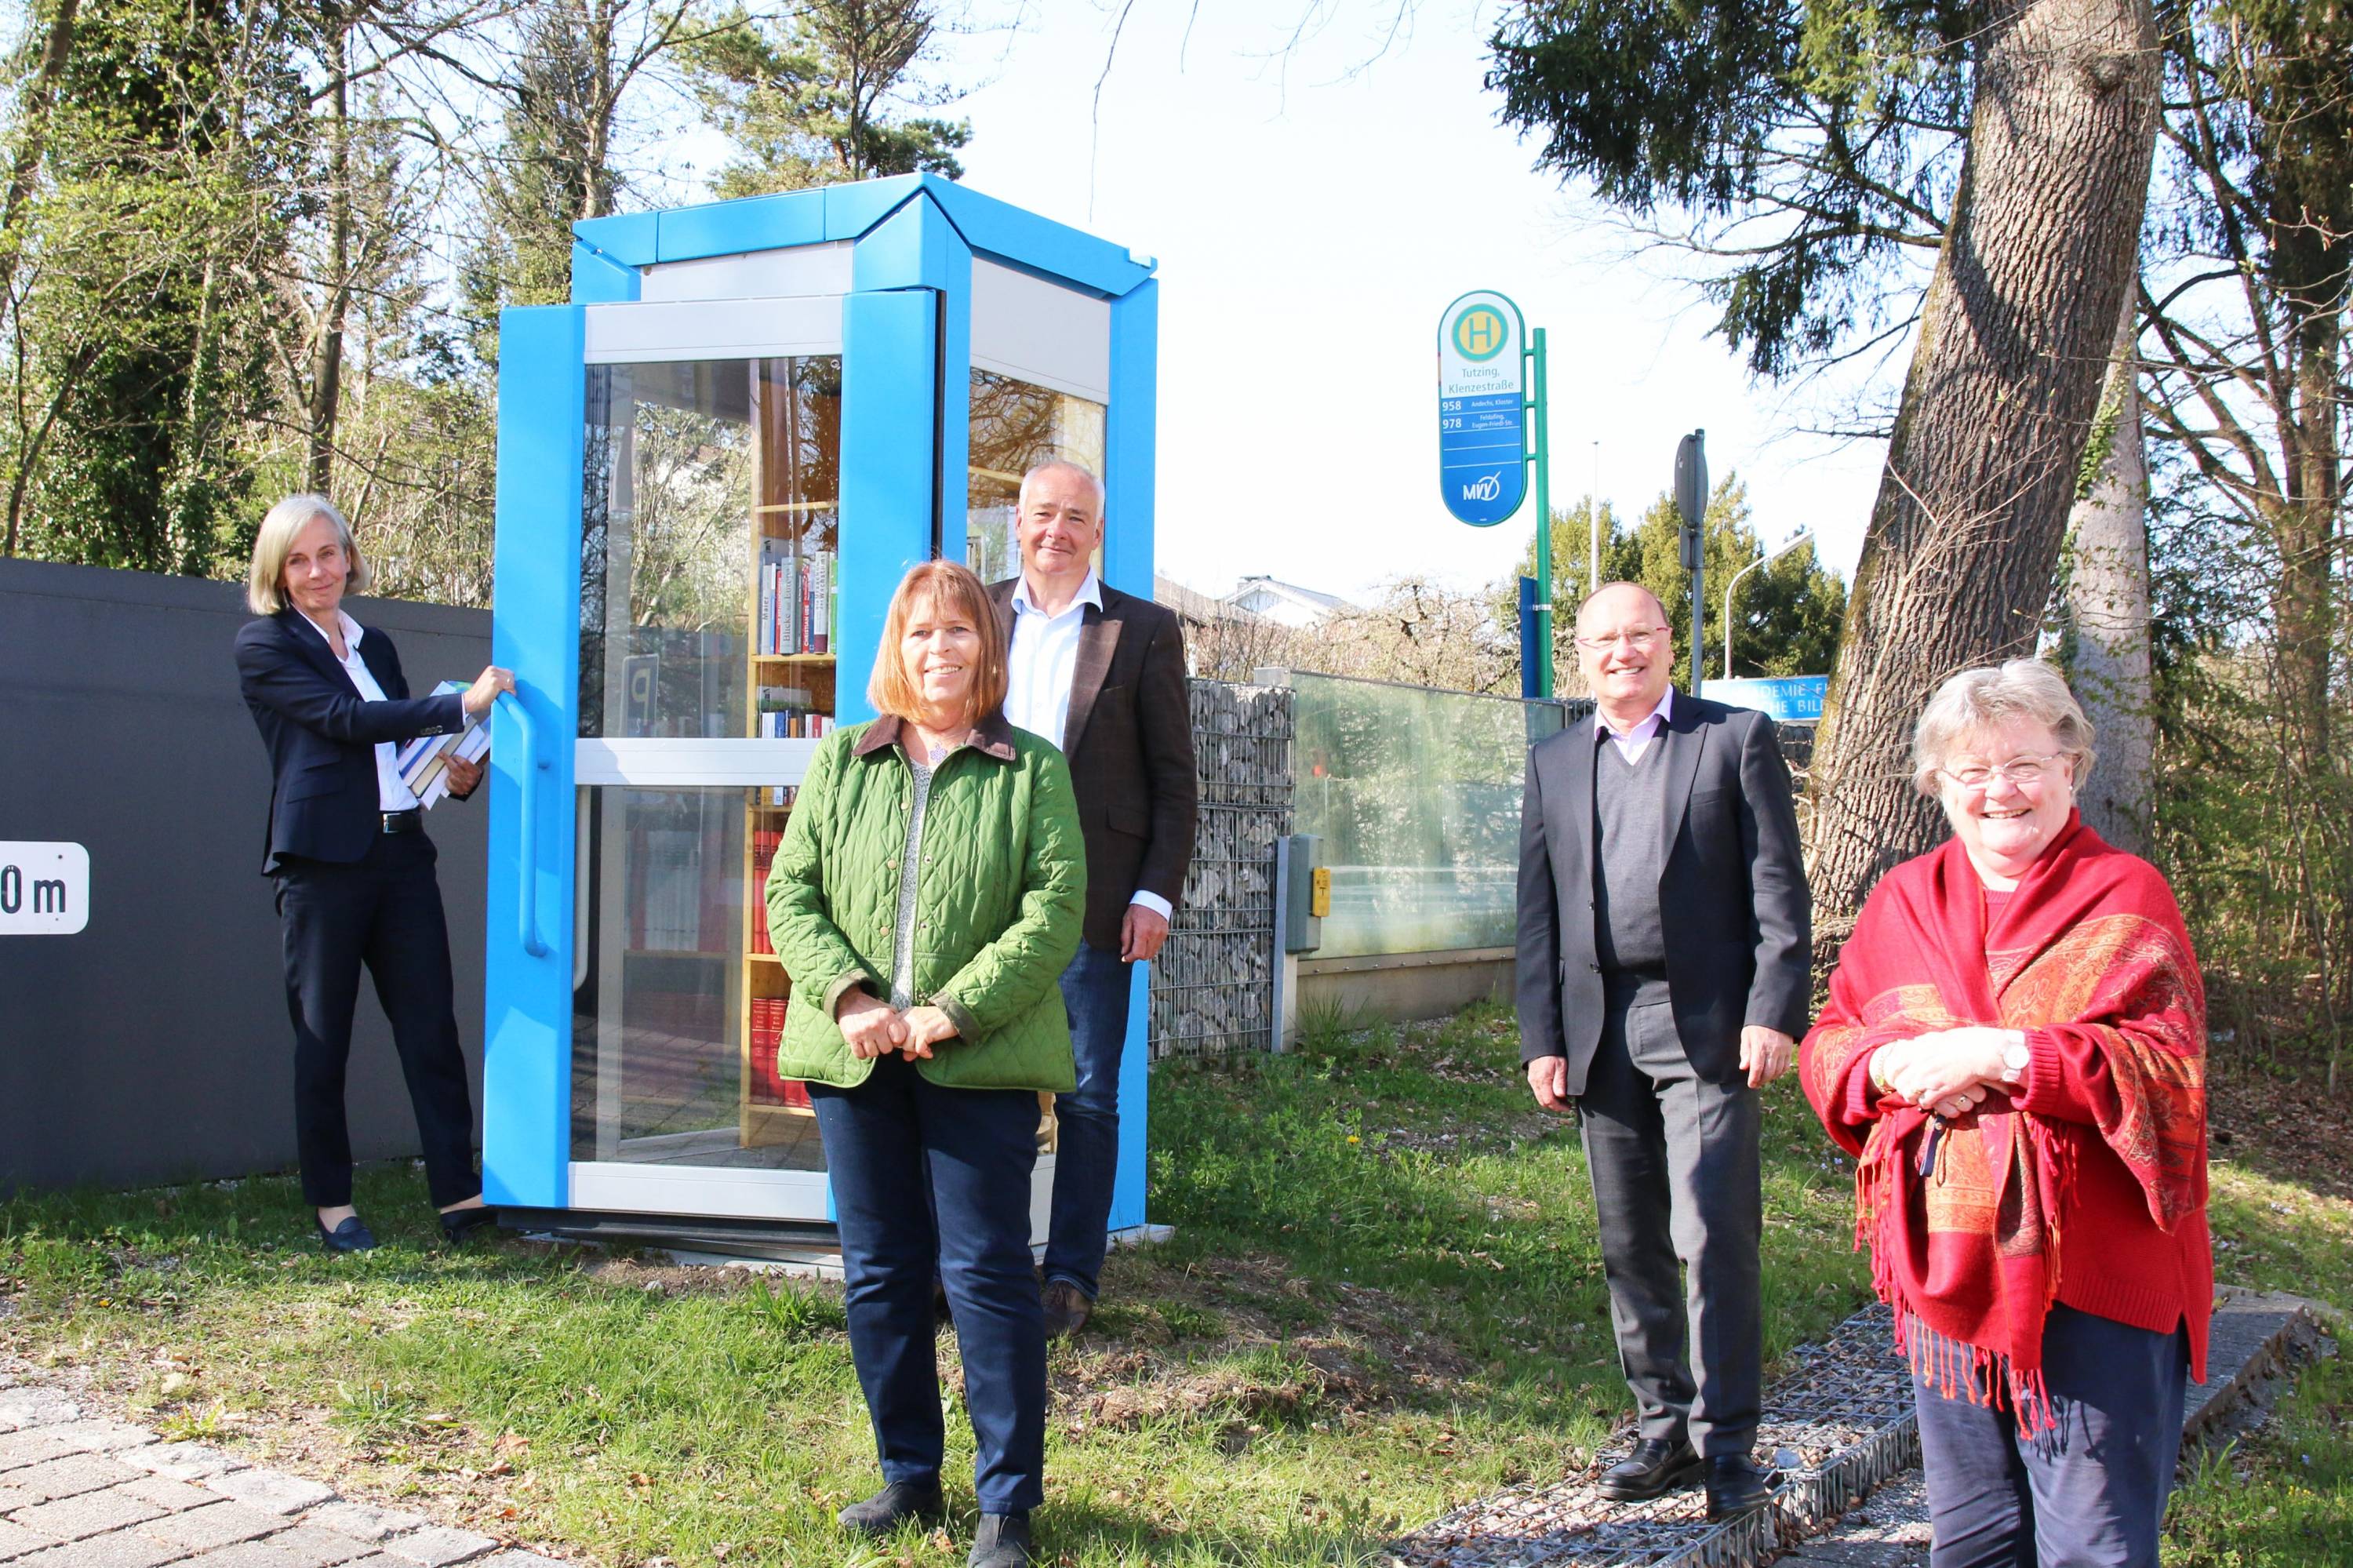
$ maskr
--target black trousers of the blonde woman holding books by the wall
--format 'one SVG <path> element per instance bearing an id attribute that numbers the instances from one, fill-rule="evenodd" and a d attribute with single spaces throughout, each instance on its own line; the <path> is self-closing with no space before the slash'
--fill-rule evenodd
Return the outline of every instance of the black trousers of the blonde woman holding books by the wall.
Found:
<path id="1" fill-rule="evenodd" d="M 294 1019 L 294 1144 L 301 1196 L 313 1208 L 351 1203 L 344 1064 L 362 963 L 376 979 L 376 1001 L 409 1081 L 433 1205 L 482 1191 L 473 1170 L 466 1055 L 456 1043 L 449 923 L 433 859 L 433 841 L 424 833 L 379 833 L 367 857 L 348 866 L 289 855 L 273 876 Z"/>

